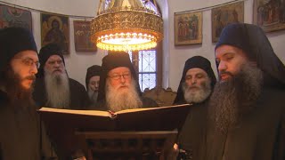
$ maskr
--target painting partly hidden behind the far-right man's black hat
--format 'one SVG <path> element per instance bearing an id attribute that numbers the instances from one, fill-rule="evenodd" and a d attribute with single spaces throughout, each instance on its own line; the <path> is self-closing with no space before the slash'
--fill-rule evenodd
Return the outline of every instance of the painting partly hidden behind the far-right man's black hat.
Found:
<path id="1" fill-rule="evenodd" d="M 244 3 L 227 4 L 212 9 L 212 42 L 216 43 L 223 28 L 230 23 L 243 23 Z"/>

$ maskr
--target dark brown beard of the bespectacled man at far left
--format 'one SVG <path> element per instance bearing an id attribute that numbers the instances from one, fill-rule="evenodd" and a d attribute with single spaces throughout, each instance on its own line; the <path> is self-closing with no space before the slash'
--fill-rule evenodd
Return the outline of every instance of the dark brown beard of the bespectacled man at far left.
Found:
<path id="1" fill-rule="evenodd" d="M 24 78 L 20 78 L 18 74 L 15 74 L 12 71 L 11 67 L 8 67 L 6 71 L 4 71 L 4 77 L 1 77 L 1 85 L 4 86 L 5 92 L 10 99 L 10 104 L 12 107 L 17 108 L 18 106 L 35 106 L 35 102 L 32 98 L 33 92 L 33 84 L 29 89 L 24 88 L 20 83 L 25 79 L 34 80 L 36 76 L 26 76 Z"/>

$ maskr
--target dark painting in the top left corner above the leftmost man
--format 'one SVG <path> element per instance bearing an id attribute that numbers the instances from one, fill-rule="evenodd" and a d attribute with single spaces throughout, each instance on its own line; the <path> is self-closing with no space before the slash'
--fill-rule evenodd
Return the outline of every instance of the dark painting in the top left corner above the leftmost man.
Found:
<path id="1" fill-rule="evenodd" d="M 0 4 L 0 28 L 21 27 L 32 31 L 31 12 Z"/>

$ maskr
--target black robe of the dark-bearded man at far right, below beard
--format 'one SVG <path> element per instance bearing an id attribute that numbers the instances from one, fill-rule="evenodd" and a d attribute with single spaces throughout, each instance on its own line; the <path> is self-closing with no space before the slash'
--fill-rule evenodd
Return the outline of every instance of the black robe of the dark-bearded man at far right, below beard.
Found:
<path id="1" fill-rule="evenodd" d="M 226 133 L 209 121 L 207 160 L 284 160 L 285 92 L 266 87 L 256 107 Z"/>

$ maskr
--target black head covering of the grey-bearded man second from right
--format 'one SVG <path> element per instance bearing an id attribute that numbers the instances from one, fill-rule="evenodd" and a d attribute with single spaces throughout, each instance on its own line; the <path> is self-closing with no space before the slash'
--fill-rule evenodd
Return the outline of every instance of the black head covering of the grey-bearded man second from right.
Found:
<path id="1" fill-rule="evenodd" d="M 187 71 L 191 68 L 203 69 L 208 74 L 208 77 L 211 79 L 212 90 L 216 84 L 216 76 L 211 67 L 211 62 L 205 59 L 204 57 L 194 56 L 185 61 L 185 65 L 183 68 L 183 75 L 180 80 L 180 84 L 177 90 L 177 95 L 175 97 L 174 104 L 186 103 L 186 100 L 184 99 L 184 94 L 183 94 L 183 83 L 185 82 L 185 76 L 186 76 Z"/>

